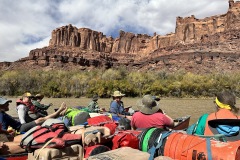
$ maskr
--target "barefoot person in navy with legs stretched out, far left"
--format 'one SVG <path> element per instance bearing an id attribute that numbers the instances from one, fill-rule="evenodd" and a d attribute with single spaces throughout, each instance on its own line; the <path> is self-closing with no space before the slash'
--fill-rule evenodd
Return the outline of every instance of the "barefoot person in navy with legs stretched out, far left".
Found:
<path id="1" fill-rule="evenodd" d="M 6 111 L 9 111 L 9 103 L 11 103 L 11 102 L 12 102 L 12 100 L 7 100 L 3 97 L 0 97 L 0 124 L 2 125 L 0 130 L 2 132 L 7 131 L 8 127 L 12 127 L 14 130 L 19 131 L 19 132 L 26 132 L 29 129 L 31 129 L 32 127 L 43 123 L 46 119 L 58 116 L 60 114 L 60 112 L 62 110 L 64 110 L 66 107 L 65 103 L 63 103 L 62 106 L 53 114 L 51 114 L 47 117 L 44 117 L 44 118 L 38 118 L 29 123 L 21 124 L 19 121 L 15 120 L 13 117 L 11 117 L 10 115 L 8 115 L 6 113 Z"/>

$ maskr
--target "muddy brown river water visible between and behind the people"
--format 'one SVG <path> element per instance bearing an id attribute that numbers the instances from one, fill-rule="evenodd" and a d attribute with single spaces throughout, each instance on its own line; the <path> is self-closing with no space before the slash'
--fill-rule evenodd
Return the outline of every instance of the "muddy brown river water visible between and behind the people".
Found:
<path id="1" fill-rule="evenodd" d="M 16 112 L 16 97 L 7 97 L 13 102 L 10 103 L 8 114 L 17 117 Z M 102 108 L 109 110 L 109 105 L 111 98 L 100 98 L 98 104 Z M 127 98 L 124 97 L 122 101 L 124 102 L 125 107 L 132 106 L 134 109 L 137 107 L 137 102 L 141 98 Z M 164 110 L 172 118 L 179 118 L 182 116 L 190 115 L 190 124 L 195 123 L 197 119 L 204 113 L 211 113 L 215 110 L 215 105 L 213 103 L 214 98 L 207 99 L 187 99 L 187 98 L 162 98 L 159 101 L 160 108 Z M 49 104 L 53 103 L 48 109 L 48 113 L 53 113 L 55 108 L 58 108 L 62 102 L 65 102 L 68 107 L 74 106 L 87 106 L 91 101 L 90 98 L 44 98 L 41 103 Z M 238 105 L 237 100 L 237 106 Z"/>

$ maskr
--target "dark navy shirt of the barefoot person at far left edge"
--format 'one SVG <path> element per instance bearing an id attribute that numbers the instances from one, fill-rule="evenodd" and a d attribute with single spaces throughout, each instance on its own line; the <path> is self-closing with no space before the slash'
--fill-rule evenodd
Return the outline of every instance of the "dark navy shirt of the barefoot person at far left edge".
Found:
<path id="1" fill-rule="evenodd" d="M 0 123 L 2 124 L 2 129 L 7 130 L 8 127 L 12 127 L 15 130 L 19 130 L 21 123 L 16 121 L 13 117 L 5 112 L 0 112 Z"/>

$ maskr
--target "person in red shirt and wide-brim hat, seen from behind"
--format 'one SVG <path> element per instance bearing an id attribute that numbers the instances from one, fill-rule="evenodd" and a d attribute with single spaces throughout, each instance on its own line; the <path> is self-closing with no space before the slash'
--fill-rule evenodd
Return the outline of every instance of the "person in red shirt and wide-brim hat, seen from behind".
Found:
<path id="1" fill-rule="evenodd" d="M 134 130 L 150 127 L 174 127 L 173 119 L 162 112 L 152 95 L 145 95 L 142 100 L 138 101 L 137 107 L 139 111 L 133 114 L 131 120 Z"/>

